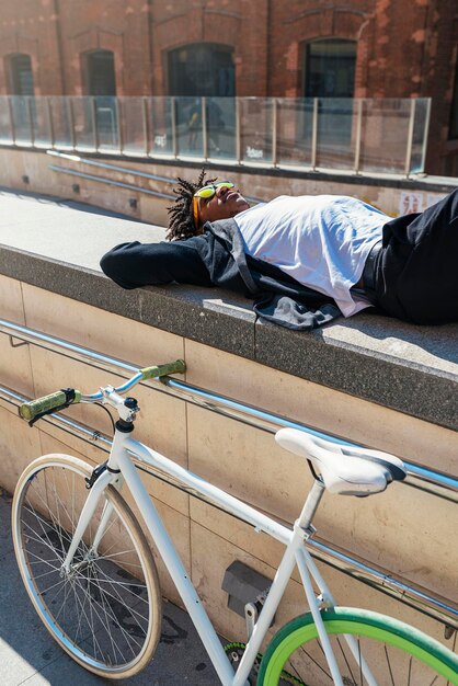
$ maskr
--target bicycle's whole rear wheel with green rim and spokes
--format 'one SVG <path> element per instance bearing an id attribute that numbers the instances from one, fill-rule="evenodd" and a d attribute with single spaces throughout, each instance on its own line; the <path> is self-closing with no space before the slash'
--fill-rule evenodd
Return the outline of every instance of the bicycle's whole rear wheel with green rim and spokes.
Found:
<path id="1" fill-rule="evenodd" d="M 458 684 L 458 658 L 401 621 L 339 607 L 321 614 L 344 686 L 448 686 Z M 355 639 L 355 652 L 345 636 Z M 364 674 L 366 661 L 374 681 Z M 282 674 L 283 671 L 286 671 Z M 257 686 L 330 686 L 333 679 L 310 613 L 285 625 L 270 643 Z"/>

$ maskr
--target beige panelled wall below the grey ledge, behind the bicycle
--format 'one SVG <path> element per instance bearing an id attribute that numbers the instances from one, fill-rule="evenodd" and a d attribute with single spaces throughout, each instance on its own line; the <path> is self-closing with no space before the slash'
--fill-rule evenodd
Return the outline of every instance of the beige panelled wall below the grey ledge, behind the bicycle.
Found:
<path id="1" fill-rule="evenodd" d="M 414 458 L 443 471 L 456 470 L 454 431 L 3 275 L 0 318 L 139 367 L 182 357 L 190 384 L 358 444 Z M 118 380 L 42 347 L 12 347 L 4 335 L 0 335 L 0 385 L 30 398 L 64 386 L 92 392 L 99 385 Z M 186 405 L 150 387 L 137 387 L 135 396 L 142 410 L 137 422 L 140 441 L 247 502 L 294 522 L 310 485 L 310 475 L 301 459 L 276 446 L 272 435 Z M 75 408 L 68 414 L 110 433 L 104 413 L 95 407 Z M 91 464 L 104 459 L 96 447 L 45 422 L 30 428 L 3 401 L 0 422 L 0 484 L 9 491 L 14 489 L 24 466 L 41 454 L 67 453 L 83 456 Z M 145 478 L 145 483 L 218 630 L 230 639 L 243 640 L 244 622 L 227 609 L 227 596 L 220 590 L 224 572 L 238 559 L 273 578 L 282 547 L 150 477 Z M 451 503 L 398 483 L 368 500 L 327 495 L 317 526 L 332 544 L 451 599 L 458 563 L 457 549 L 450 545 L 456 539 L 454 512 Z M 180 603 L 161 563 L 159 570 L 164 594 Z M 437 622 L 336 571 L 322 571 L 342 604 L 401 617 L 445 640 L 444 629 Z M 305 609 L 296 574 L 273 630 Z"/>

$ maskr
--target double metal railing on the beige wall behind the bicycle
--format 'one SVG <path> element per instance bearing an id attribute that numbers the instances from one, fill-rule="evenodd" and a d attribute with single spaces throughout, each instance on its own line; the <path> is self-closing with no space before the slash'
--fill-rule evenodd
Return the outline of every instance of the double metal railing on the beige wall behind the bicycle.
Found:
<path id="1" fill-rule="evenodd" d="M 24 343 L 37 345 L 59 355 L 70 357 L 71 359 L 83 362 L 94 368 L 115 373 L 126 378 L 138 370 L 136 366 L 128 363 L 5 320 L 0 320 L 0 333 L 8 335 L 12 345 L 18 345 L 14 343 L 14 340 L 19 340 L 22 342 L 19 343 L 19 345 Z M 174 378 L 168 378 L 165 381 L 153 380 L 147 385 L 149 384 L 152 384 L 154 390 L 159 392 L 173 395 L 183 401 L 205 407 L 211 412 L 229 416 L 270 433 L 275 433 L 282 426 L 293 426 L 316 436 L 325 437 L 328 439 L 331 438 L 331 436 L 312 430 L 299 422 L 293 422 L 286 418 L 265 412 L 257 408 L 225 398 L 224 396 L 218 396 L 217 393 L 206 391 Z M 0 399 L 14 407 L 19 407 L 22 402 L 28 400 L 1 386 Z M 110 451 L 112 445 L 111 441 L 106 436 L 101 435 L 98 431 L 90 430 L 59 414 L 44 418 L 44 421 L 58 426 L 64 432 L 70 433 L 82 441 L 96 445 L 105 453 Z M 332 437 L 332 439 L 340 444 L 352 445 L 337 437 Z M 451 502 L 458 502 L 458 479 L 415 465 L 414 462 L 404 460 L 404 464 L 408 468 L 408 478 L 403 484 L 420 488 L 421 490 L 439 495 Z M 154 475 L 153 470 L 147 471 L 152 471 Z M 162 479 L 164 478 L 162 472 L 160 476 Z M 175 485 L 173 482 L 170 482 L 170 484 Z M 332 547 L 328 542 L 313 539 L 310 541 L 310 548 L 311 553 L 318 560 L 440 621 L 445 625 L 447 634 L 458 629 L 458 608 L 449 601 L 435 596 L 430 591 L 421 588 L 420 586 L 407 584 L 401 579 L 396 579 L 386 570 L 375 568 L 353 554 L 351 556 Z"/>

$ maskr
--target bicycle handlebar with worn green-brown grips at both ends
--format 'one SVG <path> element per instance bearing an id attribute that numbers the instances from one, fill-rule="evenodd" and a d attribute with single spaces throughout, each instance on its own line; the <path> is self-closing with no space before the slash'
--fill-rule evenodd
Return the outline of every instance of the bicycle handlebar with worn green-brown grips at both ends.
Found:
<path id="1" fill-rule="evenodd" d="M 145 381 L 147 379 L 156 379 L 170 374 L 183 374 L 186 369 L 186 364 L 183 359 L 176 359 L 164 365 L 153 365 L 151 367 L 145 367 L 140 369 L 128 381 L 115 388 L 115 391 L 125 392 L 138 381 Z M 77 404 L 79 402 L 96 402 L 101 400 L 103 395 L 101 392 L 93 396 L 83 396 L 81 391 L 71 388 L 62 389 L 43 398 L 36 400 L 30 400 L 23 402 L 19 407 L 19 415 L 26 422 L 33 424 L 36 420 L 39 420 L 45 414 L 51 414 L 58 410 L 64 410 L 70 404 Z"/>

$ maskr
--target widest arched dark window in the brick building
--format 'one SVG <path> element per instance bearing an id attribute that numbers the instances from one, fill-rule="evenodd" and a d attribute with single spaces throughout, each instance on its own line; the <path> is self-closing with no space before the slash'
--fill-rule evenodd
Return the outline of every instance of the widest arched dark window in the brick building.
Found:
<path id="1" fill-rule="evenodd" d="M 170 50 L 169 95 L 232 98 L 236 94 L 232 48 L 214 44 Z"/>

